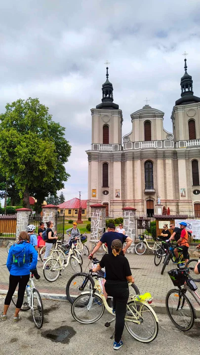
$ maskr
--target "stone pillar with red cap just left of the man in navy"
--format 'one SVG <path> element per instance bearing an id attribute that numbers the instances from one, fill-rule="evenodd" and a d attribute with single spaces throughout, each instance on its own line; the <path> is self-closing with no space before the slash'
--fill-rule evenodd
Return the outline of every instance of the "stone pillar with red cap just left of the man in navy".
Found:
<path id="1" fill-rule="evenodd" d="M 103 234 L 106 227 L 106 206 L 101 204 L 91 205 L 91 234 L 90 249 L 93 249 Z M 101 233 L 101 234 L 99 234 Z"/>

